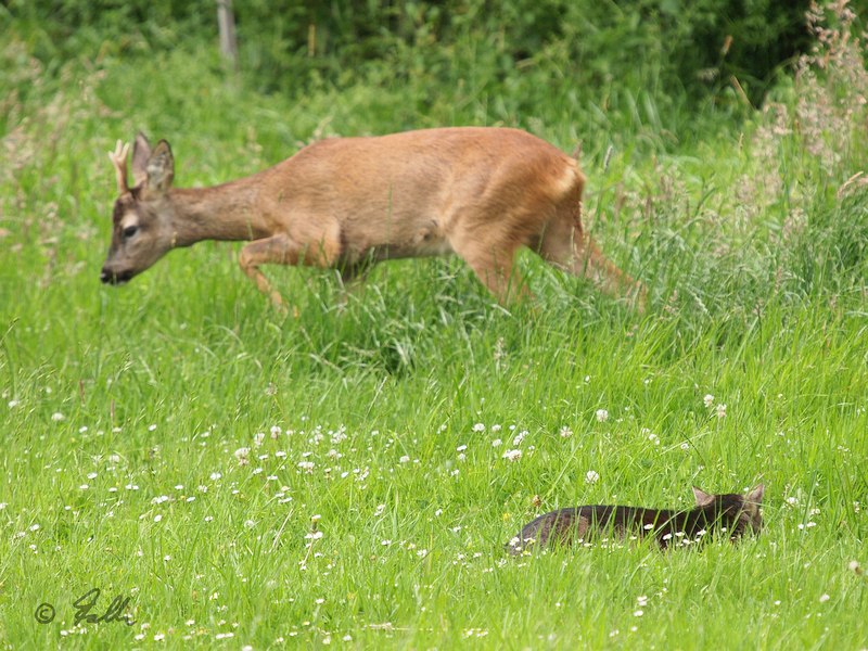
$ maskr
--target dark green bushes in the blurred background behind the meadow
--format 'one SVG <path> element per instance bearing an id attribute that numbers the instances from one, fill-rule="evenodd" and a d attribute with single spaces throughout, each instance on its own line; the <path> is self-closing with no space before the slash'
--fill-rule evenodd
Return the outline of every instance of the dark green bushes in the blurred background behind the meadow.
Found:
<path id="1" fill-rule="evenodd" d="M 259 91 L 299 95 L 366 77 L 422 76 L 482 90 L 551 66 L 580 85 L 643 86 L 695 101 L 732 79 L 756 104 L 804 51 L 808 0 L 235 0 L 241 72 Z M 856 3 L 864 4 L 864 2 Z M 5 16 L 48 65 L 216 43 L 214 2 L 7 0 Z M 11 22 L 11 21 L 10 21 Z M 539 74 L 542 73 L 542 74 Z M 480 80 L 477 80 L 477 84 Z M 476 89 L 480 90 L 478 88 Z"/>

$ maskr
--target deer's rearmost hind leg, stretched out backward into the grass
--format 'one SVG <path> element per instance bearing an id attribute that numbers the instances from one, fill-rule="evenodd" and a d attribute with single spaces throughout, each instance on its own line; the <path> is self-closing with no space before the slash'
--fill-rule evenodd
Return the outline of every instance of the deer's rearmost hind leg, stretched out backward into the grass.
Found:
<path id="1" fill-rule="evenodd" d="M 534 250 L 553 267 L 587 278 L 603 292 L 626 297 L 640 312 L 644 311 L 642 284 L 602 254 L 597 243 L 583 232 L 575 215 L 556 214 L 546 224 Z"/>

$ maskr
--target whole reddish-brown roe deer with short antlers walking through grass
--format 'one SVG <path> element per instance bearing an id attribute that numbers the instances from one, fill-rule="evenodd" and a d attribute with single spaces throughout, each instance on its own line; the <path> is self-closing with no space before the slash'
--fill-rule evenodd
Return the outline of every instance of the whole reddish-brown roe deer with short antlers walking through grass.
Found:
<path id="1" fill-rule="evenodd" d="M 600 253 L 580 220 L 575 159 L 516 129 L 460 127 L 316 142 L 235 181 L 175 189 L 168 142 L 139 133 L 108 154 L 120 196 L 101 280 L 120 284 L 167 251 L 252 240 L 239 264 L 276 306 L 264 264 L 335 267 L 345 281 L 387 258 L 456 253 L 501 303 L 526 294 L 520 246 L 643 307 L 644 290 Z"/>

